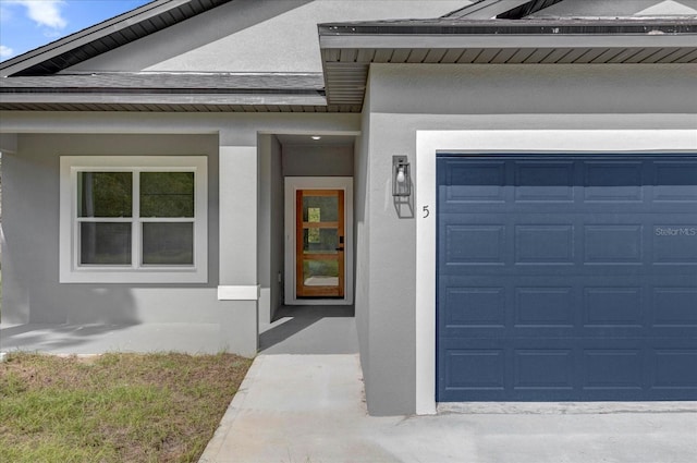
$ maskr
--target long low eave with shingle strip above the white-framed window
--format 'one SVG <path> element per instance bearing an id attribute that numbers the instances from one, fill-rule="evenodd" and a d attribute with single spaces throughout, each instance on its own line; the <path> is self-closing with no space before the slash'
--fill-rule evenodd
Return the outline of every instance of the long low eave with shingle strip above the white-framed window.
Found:
<path id="1" fill-rule="evenodd" d="M 355 112 L 328 106 L 321 73 L 89 73 L 0 78 L 0 109 Z"/>

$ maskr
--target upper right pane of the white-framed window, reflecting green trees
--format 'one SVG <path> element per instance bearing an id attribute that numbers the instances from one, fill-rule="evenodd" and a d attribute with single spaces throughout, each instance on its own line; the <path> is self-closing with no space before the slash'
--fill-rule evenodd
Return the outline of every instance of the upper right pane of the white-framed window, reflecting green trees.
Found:
<path id="1" fill-rule="evenodd" d="M 140 217 L 194 217 L 194 172 L 142 172 Z"/>

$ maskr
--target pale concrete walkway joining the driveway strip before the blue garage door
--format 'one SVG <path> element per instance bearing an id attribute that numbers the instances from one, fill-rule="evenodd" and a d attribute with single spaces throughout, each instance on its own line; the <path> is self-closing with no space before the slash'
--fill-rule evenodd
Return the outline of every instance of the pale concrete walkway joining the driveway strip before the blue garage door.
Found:
<path id="1" fill-rule="evenodd" d="M 354 354 L 258 356 L 200 462 L 697 461 L 694 402 L 476 404 L 371 417 L 360 375 Z"/>

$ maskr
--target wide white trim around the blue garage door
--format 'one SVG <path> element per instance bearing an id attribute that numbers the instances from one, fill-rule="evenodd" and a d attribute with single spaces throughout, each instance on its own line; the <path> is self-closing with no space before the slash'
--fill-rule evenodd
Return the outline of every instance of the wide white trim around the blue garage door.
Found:
<path id="1" fill-rule="evenodd" d="M 570 149 L 573 148 L 573 149 Z M 436 156 L 462 154 L 668 154 L 697 151 L 697 130 L 417 131 L 416 413 L 436 413 Z"/>

